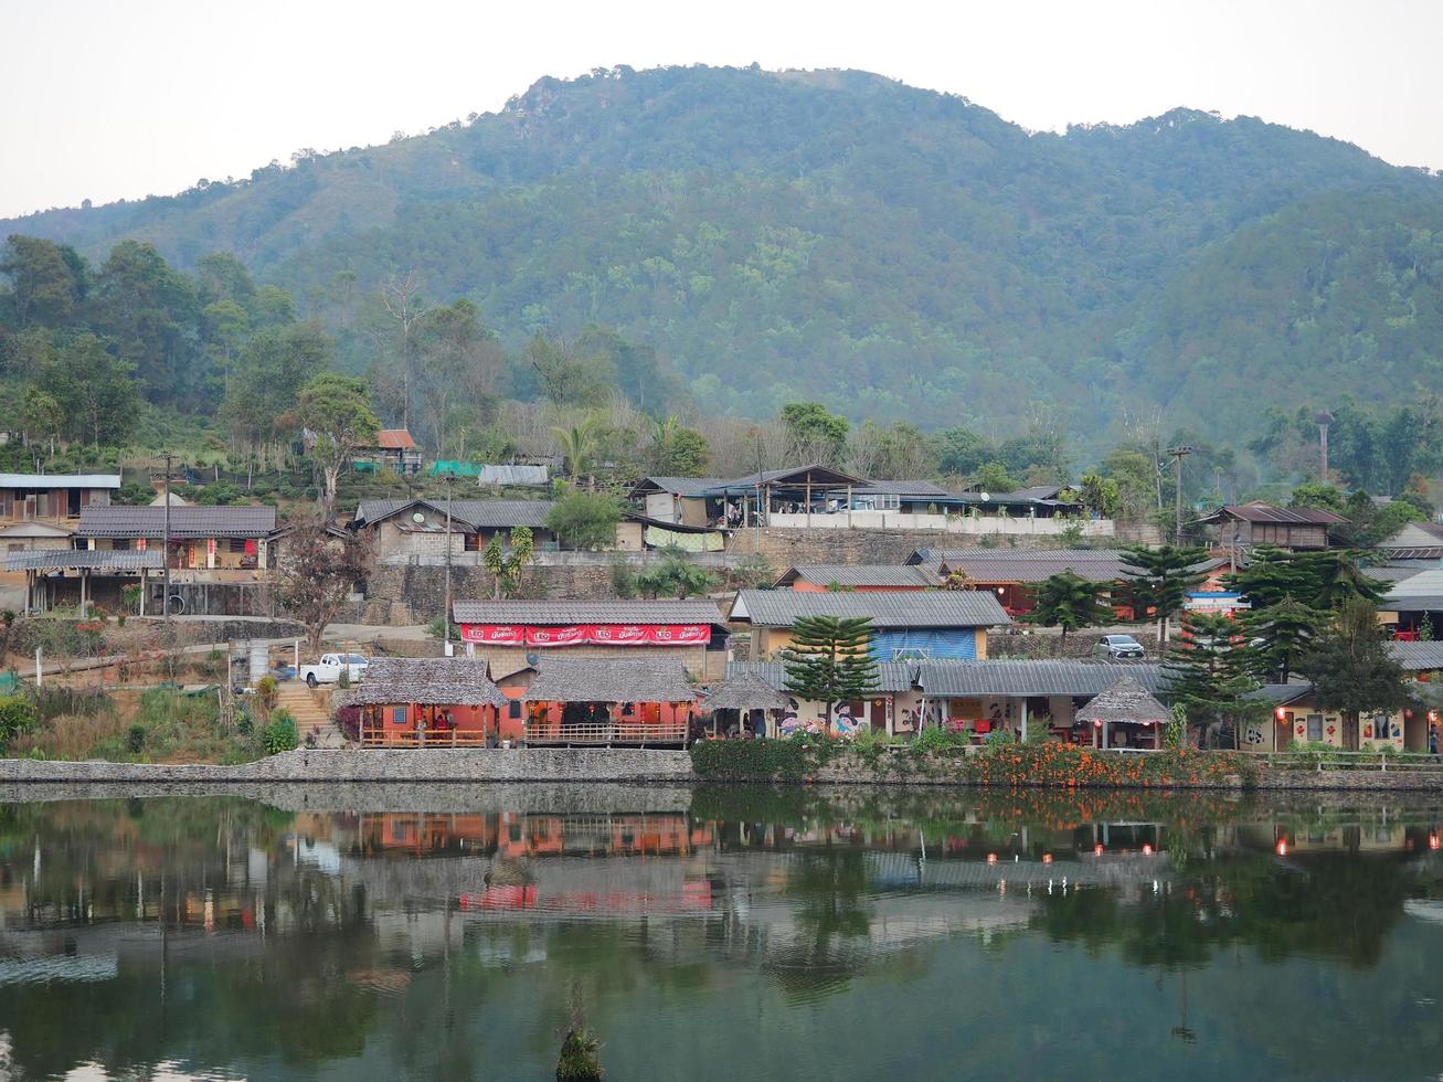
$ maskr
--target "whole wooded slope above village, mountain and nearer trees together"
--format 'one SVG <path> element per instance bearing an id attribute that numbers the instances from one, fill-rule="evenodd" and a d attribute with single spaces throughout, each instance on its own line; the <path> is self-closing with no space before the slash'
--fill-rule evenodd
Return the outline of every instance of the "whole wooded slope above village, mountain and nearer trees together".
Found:
<path id="1" fill-rule="evenodd" d="M 1029 134 L 861 72 L 599 71 L 12 234 L 7 423 L 56 439 L 149 424 L 254 454 L 338 368 L 466 457 L 605 404 L 635 415 L 600 430 L 710 426 L 727 472 L 755 450 L 720 418 L 815 401 L 848 454 L 926 473 L 1186 437 L 1215 449 L 1199 491 L 1250 489 L 1306 472 L 1317 408 L 1349 483 L 1440 467 L 1443 180 L 1254 118 Z"/>

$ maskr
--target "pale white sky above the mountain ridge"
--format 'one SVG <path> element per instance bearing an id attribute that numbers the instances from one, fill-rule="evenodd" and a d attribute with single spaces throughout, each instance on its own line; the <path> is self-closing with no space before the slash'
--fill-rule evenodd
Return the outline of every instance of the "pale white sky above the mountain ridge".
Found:
<path id="1" fill-rule="evenodd" d="M 864 68 L 1030 128 L 1175 105 L 1443 169 L 1440 0 L 0 0 L 0 215 L 170 193 L 628 63 Z"/>

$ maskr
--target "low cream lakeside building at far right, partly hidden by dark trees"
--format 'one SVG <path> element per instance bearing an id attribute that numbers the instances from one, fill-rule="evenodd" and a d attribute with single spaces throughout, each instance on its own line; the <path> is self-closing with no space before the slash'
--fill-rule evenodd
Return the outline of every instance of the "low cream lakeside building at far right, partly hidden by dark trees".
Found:
<path id="1" fill-rule="evenodd" d="M 1238 733 L 1244 752 L 1287 752 L 1328 744 L 1343 752 L 1426 752 L 1429 718 L 1423 711 L 1372 711 L 1351 726 L 1339 710 L 1323 710 L 1312 684 L 1267 684 L 1253 697 L 1273 707 L 1271 717 L 1247 721 Z"/>

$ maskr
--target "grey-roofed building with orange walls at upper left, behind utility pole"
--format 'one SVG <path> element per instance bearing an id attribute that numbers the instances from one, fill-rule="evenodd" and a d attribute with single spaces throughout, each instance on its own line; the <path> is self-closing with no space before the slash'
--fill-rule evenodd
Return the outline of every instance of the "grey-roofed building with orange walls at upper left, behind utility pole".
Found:
<path id="1" fill-rule="evenodd" d="M 166 535 L 167 508 L 87 506 L 75 528 L 76 548 L 91 551 L 159 550 Z M 195 581 L 247 581 L 274 567 L 278 545 L 276 508 L 169 508 L 170 568 L 189 571 Z"/>

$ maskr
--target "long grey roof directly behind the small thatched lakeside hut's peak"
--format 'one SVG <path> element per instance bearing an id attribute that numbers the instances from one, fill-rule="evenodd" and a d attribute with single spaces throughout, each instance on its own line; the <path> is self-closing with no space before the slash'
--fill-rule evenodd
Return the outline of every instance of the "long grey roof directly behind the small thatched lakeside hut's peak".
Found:
<path id="1" fill-rule="evenodd" d="M 921 661 L 918 684 L 929 697 L 1097 695 L 1120 675 L 1152 694 L 1166 690 L 1162 665 L 1108 661 Z"/>

